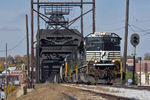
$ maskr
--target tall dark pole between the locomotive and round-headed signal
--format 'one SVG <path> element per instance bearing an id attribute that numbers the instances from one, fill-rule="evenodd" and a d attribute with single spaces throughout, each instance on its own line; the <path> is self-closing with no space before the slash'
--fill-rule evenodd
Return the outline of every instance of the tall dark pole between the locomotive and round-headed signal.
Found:
<path id="1" fill-rule="evenodd" d="M 125 41 L 124 41 L 124 58 L 123 58 L 123 83 L 126 78 L 126 61 L 127 61 L 127 42 L 128 42 L 128 21 L 129 21 L 129 0 L 126 0 L 126 21 L 125 21 Z"/>

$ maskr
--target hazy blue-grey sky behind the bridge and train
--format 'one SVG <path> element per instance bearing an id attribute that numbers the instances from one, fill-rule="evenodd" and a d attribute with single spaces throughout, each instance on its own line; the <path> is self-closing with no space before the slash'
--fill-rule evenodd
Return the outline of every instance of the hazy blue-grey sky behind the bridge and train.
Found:
<path id="1" fill-rule="evenodd" d="M 125 1 L 96 0 L 96 31 L 117 33 L 122 38 L 122 52 L 124 48 Z M 85 11 L 87 10 L 88 8 L 85 9 Z M 128 55 L 131 55 L 133 50 L 130 44 L 130 36 L 133 33 L 138 33 L 141 38 L 140 44 L 137 46 L 137 56 L 143 57 L 145 53 L 150 53 L 149 11 L 150 0 L 130 0 Z M 9 50 L 8 55 L 25 55 L 25 14 L 30 17 L 30 0 L 3 0 L 0 3 L 0 12 L 0 57 L 5 55 L 2 50 L 5 49 L 6 43 L 8 43 L 8 49 L 12 49 Z M 85 34 L 90 33 L 92 28 L 92 24 L 88 23 L 89 16 L 84 20 Z"/>

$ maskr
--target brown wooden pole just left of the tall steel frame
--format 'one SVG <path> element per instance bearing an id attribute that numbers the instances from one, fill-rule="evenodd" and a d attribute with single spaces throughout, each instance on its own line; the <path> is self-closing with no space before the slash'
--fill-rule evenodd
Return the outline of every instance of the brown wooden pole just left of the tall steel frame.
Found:
<path id="1" fill-rule="evenodd" d="M 26 40 L 27 40 L 27 73 L 29 77 L 30 70 L 30 57 L 29 57 L 29 29 L 28 29 L 28 15 L 26 14 Z"/>

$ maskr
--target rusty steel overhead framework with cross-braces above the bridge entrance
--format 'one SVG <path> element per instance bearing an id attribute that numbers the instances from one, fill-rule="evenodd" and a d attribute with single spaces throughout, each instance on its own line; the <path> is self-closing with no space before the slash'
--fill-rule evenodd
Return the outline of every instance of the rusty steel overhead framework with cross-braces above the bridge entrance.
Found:
<path id="1" fill-rule="evenodd" d="M 40 21 L 41 19 L 48 25 L 47 28 L 52 28 L 53 31 L 48 34 L 55 33 L 56 31 L 64 28 L 80 37 L 83 37 L 84 34 L 84 15 L 88 14 L 89 12 L 92 12 L 92 24 L 93 24 L 93 33 L 95 32 L 95 0 L 89 0 L 88 2 L 84 0 L 75 0 L 74 2 L 49 2 L 45 0 L 31 0 L 31 79 L 32 83 L 34 81 L 34 43 L 37 42 L 39 44 L 39 41 L 34 41 L 34 13 L 37 14 L 37 31 L 40 30 Z M 84 12 L 84 5 L 92 5 L 91 9 Z M 69 21 L 64 18 L 63 15 L 69 15 L 69 11 L 73 7 L 80 7 L 80 15 L 73 20 Z M 43 10 L 44 12 L 43 12 Z M 50 16 L 50 17 L 49 17 Z M 69 29 L 69 27 L 74 24 L 78 19 L 81 21 L 81 34 L 78 34 L 76 31 Z M 55 26 L 55 27 L 54 27 Z M 48 34 L 45 34 L 42 38 L 46 37 Z"/>

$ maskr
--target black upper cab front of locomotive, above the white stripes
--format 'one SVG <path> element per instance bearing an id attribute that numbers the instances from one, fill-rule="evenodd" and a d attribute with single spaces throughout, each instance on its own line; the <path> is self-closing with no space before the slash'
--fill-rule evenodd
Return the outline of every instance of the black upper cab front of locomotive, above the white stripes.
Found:
<path id="1" fill-rule="evenodd" d="M 120 51 L 120 37 L 86 37 L 87 51 Z"/>

